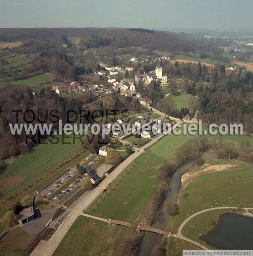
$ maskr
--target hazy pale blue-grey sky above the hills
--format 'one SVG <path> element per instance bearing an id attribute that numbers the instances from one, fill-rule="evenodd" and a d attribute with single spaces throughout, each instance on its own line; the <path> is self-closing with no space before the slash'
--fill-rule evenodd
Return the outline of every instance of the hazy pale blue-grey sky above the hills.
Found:
<path id="1" fill-rule="evenodd" d="M 253 28 L 253 0 L 0 0 L 1 28 Z"/>

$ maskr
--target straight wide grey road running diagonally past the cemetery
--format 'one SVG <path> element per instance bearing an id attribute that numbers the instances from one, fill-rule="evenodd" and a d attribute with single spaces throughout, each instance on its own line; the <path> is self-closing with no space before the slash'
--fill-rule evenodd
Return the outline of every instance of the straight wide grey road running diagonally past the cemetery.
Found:
<path id="1" fill-rule="evenodd" d="M 121 162 L 115 170 L 108 175 L 100 184 L 97 185 L 93 190 L 88 190 L 81 195 L 71 206 L 67 209 L 69 215 L 65 218 L 62 224 L 59 226 L 57 231 L 53 234 L 49 241 L 41 241 L 35 250 L 32 252 L 32 256 L 49 256 L 52 255 L 54 250 L 57 248 L 63 237 L 67 233 L 70 226 L 74 223 L 76 218 L 82 214 L 83 209 L 86 209 L 93 201 L 100 195 L 100 191 L 103 187 L 107 187 L 109 183 L 113 182 L 114 179 L 129 165 L 136 157 L 142 154 L 146 148 L 156 143 L 157 140 L 163 138 L 164 135 L 158 135 L 156 138 L 151 140 L 149 143 L 139 149 L 139 152 L 135 151 L 132 155 Z"/>

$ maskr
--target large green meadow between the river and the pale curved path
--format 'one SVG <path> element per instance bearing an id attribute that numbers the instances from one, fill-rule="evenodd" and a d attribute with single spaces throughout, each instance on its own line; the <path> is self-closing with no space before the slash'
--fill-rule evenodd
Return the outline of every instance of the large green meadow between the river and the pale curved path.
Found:
<path id="1" fill-rule="evenodd" d="M 210 165 L 223 164 L 230 166 L 223 171 L 197 176 L 188 183 L 178 198 L 180 212 L 171 218 L 168 230 L 177 232 L 183 220 L 203 209 L 219 206 L 253 207 L 252 164 L 238 160 L 213 160 L 210 163 Z M 215 212 L 210 212 L 208 215 L 215 219 L 217 217 Z M 208 221 L 210 223 L 210 219 Z M 203 223 L 203 226 L 205 228 L 202 232 L 205 233 L 207 224 Z M 194 232 L 188 233 L 196 237 Z"/>

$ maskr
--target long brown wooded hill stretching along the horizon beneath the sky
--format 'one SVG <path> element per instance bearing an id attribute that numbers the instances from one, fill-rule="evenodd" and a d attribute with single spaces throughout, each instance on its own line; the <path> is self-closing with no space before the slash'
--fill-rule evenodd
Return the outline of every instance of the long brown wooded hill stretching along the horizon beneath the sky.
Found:
<path id="1" fill-rule="evenodd" d="M 197 44 L 170 33 L 145 33 L 127 28 L 0 28 L 0 41 L 40 40 L 62 42 L 62 35 L 81 39 L 94 37 L 113 39 L 113 47 L 145 46 L 162 51 L 198 50 Z"/>

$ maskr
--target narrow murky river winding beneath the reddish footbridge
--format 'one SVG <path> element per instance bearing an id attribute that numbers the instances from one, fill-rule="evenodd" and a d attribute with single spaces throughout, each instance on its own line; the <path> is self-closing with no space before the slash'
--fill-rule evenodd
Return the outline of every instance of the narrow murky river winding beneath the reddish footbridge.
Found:
<path id="1" fill-rule="evenodd" d="M 215 152 L 205 152 L 202 155 L 203 160 L 210 160 L 216 156 Z M 176 203 L 177 195 L 181 188 L 181 177 L 184 173 L 188 172 L 193 167 L 193 163 L 188 163 L 180 168 L 178 168 L 170 177 L 168 185 L 170 190 L 167 191 L 165 195 L 165 200 L 159 209 L 159 215 L 152 224 L 152 227 L 165 230 L 167 228 L 168 222 L 170 220 L 169 215 L 167 214 L 166 208 L 168 201 Z M 156 246 L 160 235 L 151 232 L 145 232 L 143 238 L 141 239 L 138 256 L 148 256 L 150 255 L 154 246 Z"/>

